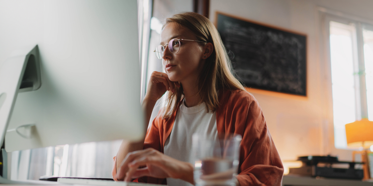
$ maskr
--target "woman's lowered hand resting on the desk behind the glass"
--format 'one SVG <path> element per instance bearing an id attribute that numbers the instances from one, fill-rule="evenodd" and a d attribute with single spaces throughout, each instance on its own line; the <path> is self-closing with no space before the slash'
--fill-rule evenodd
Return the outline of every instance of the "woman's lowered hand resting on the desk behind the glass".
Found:
<path id="1" fill-rule="evenodd" d="M 128 153 L 117 179 L 124 178 L 125 182 L 130 182 L 143 176 L 175 178 L 194 184 L 193 166 L 190 163 L 176 160 L 152 148 Z"/>

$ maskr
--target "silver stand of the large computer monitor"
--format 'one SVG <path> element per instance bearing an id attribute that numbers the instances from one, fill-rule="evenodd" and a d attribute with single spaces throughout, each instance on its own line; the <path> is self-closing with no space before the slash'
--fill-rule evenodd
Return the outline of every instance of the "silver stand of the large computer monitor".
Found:
<path id="1" fill-rule="evenodd" d="M 0 144 L 4 143 L 14 103 L 19 92 L 34 91 L 41 86 L 40 57 L 38 46 L 14 51 L 0 68 Z M 21 125 L 17 133 L 22 137 L 36 137 L 34 126 Z M 2 175 L 0 184 L 37 184 L 41 181 L 13 181 L 7 179 L 7 153 L 1 149 Z M 48 183 L 51 184 L 51 183 Z"/>

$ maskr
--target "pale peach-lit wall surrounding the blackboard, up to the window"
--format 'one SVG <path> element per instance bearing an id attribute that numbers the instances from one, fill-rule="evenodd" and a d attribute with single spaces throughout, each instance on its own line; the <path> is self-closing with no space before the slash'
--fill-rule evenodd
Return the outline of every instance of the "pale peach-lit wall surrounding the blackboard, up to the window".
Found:
<path id="1" fill-rule="evenodd" d="M 282 160 L 330 153 L 351 161 L 351 151 L 334 148 L 329 72 L 320 53 L 318 6 L 373 20 L 371 0 L 211 0 L 209 18 L 215 22 L 215 12 L 220 11 L 307 35 L 307 100 L 253 95 Z"/>

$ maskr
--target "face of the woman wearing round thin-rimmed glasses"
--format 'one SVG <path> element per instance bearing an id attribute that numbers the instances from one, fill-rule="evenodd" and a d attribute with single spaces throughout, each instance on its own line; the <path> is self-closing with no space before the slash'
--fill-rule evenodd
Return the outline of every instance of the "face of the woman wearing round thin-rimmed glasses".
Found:
<path id="1" fill-rule="evenodd" d="M 161 45 L 166 45 L 171 39 L 197 40 L 185 27 L 176 23 L 168 23 L 161 33 Z M 170 52 L 166 47 L 162 55 L 163 67 L 171 81 L 197 80 L 202 68 L 203 47 L 199 42 L 181 40 L 178 53 Z"/>

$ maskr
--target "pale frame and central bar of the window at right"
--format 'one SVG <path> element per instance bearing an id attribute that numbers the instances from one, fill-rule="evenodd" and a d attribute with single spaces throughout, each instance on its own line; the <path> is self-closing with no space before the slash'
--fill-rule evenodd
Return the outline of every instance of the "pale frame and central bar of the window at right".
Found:
<path id="1" fill-rule="evenodd" d="M 355 77 L 355 100 L 356 100 L 356 120 L 368 118 L 368 102 L 367 102 L 367 87 L 365 76 L 365 59 L 364 59 L 364 38 L 363 28 L 364 25 L 373 25 L 372 20 L 360 18 L 357 16 L 349 15 L 339 11 L 327 9 L 324 7 L 316 8 L 319 15 L 320 25 L 320 57 L 321 65 L 320 72 L 323 76 L 321 82 L 324 89 L 323 101 L 326 104 L 325 118 L 327 126 L 321 130 L 324 133 L 324 138 L 328 139 L 326 144 L 326 151 L 332 154 L 344 154 L 342 157 L 351 159 L 353 148 L 336 148 L 334 136 L 334 123 L 333 123 L 333 97 L 332 97 L 332 75 L 331 75 L 331 55 L 330 55 L 330 21 L 335 21 L 343 24 L 354 25 L 355 33 L 353 33 L 353 58 L 354 58 L 354 71 L 359 75 Z"/>

